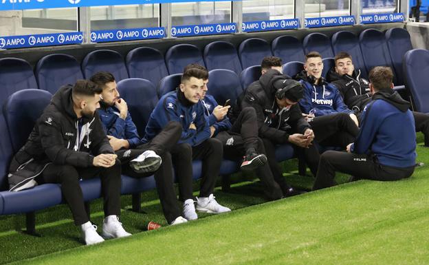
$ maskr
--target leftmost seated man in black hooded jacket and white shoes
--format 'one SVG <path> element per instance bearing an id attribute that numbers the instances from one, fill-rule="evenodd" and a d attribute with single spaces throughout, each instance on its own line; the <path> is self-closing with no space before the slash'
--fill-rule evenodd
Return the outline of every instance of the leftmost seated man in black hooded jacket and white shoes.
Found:
<path id="1" fill-rule="evenodd" d="M 104 240 L 97 227 L 89 222 L 80 178 L 100 176 L 105 216 L 103 236 L 131 235 L 118 219 L 121 167 L 96 114 L 101 92 L 101 87 L 85 80 L 58 89 L 9 168 L 10 191 L 28 189 L 37 183 L 61 184 L 63 197 L 74 223 L 81 228 L 85 244 Z"/>

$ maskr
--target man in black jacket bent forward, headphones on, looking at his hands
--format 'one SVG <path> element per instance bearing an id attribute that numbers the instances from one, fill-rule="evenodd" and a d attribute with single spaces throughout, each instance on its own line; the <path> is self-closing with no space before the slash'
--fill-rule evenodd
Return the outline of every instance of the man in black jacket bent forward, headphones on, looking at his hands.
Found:
<path id="1" fill-rule="evenodd" d="M 282 187 L 287 184 L 275 160 L 276 145 L 292 144 L 298 156 L 305 159 L 314 176 L 317 172 L 319 152 L 312 145 L 313 130 L 297 105 L 303 98 L 302 85 L 281 74 L 281 65 L 273 67 L 270 59 L 271 57 L 263 60 L 261 78 L 250 84 L 239 96 L 233 112 L 236 115 L 245 107 L 254 107 L 256 110 L 259 137 L 263 139 L 274 178 Z"/>

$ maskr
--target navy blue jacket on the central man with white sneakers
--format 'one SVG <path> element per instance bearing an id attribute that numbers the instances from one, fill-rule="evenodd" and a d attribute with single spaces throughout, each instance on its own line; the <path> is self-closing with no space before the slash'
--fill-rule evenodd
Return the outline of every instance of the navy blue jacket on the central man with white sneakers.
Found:
<path id="1" fill-rule="evenodd" d="M 179 144 L 188 143 L 193 147 L 210 138 L 208 118 L 201 100 L 194 104 L 176 89 L 159 99 L 146 125 L 143 141 L 150 141 L 172 120 L 182 125 Z M 192 123 L 197 130 L 189 128 Z"/>

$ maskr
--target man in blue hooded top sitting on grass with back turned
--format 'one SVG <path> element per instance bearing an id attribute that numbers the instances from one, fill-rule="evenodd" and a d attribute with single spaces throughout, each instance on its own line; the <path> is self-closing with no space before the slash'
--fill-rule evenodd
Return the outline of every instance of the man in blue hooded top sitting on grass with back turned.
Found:
<path id="1" fill-rule="evenodd" d="M 322 153 L 313 189 L 333 186 L 336 171 L 370 180 L 400 180 L 414 172 L 416 137 L 410 103 L 393 90 L 390 67 L 373 68 L 369 81 L 373 96 L 362 113 L 358 138 L 347 147 L 348 153 Z"/>

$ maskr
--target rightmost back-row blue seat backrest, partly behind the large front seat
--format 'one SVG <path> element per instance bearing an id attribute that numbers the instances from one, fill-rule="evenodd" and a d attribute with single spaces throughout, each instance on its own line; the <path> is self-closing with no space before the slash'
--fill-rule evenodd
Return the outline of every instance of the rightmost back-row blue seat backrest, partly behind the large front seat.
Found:
<path id="1" fill-rule="evenodd" d="M 412 50 L 410 34 L 404 28 L 391 28 L 386 31 L 386 41 L 389 54 L 391 54 L 397 85 L 404 85 L 402 61 L 404 61 L 405 53 Z"/>

